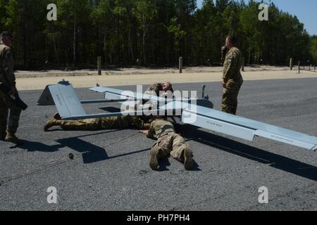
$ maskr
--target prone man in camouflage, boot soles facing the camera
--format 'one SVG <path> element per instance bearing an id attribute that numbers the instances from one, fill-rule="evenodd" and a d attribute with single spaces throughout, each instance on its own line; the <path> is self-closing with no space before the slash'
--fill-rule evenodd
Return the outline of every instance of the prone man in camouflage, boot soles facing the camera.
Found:
<path id="1" fill-rule="evenodd" d="M 151 148 L 150 167 L 153 170 L 158 169 L 159 160 L 171 155 L 176 160 L 184 163 L 185 169 L 192 169 L 194 161 L 192 160 L 192 150 L 189 148 L 185 139 L 175 133 L 174 126 L 166 119 L 157 119 L 151 122 L 148 131 L 141 131 L 147 134 L 148 138 L 153 138 L 156 134 L 157 141 Z"/>

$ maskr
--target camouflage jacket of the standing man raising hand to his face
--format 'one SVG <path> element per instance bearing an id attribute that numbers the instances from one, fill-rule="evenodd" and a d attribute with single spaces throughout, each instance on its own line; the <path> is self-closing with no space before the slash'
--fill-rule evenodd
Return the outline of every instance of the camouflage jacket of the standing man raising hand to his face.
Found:
<path id="1" fill-rule="evenodd" d="M 223 80 L 228 82 L 233 80 L 235 82 L 242 80 L 242 53 L 237 48 L 231 48 L 225 56 L 223 63 Z"/>

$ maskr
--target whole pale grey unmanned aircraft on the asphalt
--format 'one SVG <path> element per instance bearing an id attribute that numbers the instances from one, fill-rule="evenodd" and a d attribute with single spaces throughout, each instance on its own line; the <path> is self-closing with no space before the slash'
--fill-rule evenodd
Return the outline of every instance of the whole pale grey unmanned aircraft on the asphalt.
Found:
<path id="1" fill-rule="evenodd" d="M 111 89 L 102 86 L 95 86 L 91 89 L 105 94 L 105 99 L 80 101 L 73 89 L 72 84 L 66 81 L 58 82 L 55 85 L 48 85 L 39 98 L 37 105 L 56 105 L 62 120 L 79 120 L 88 118 L 101 118 L 128 115 L 175 115 L 180 113 L 181 121 L 185 124 L 192 124 L 196 127 L 217 131 L 222 134 L 235 136 L 247 141 L 254 141 L 256 136 L 266 139 L 280 141 L 292 146 L 298 146 L 309 150 L 317 150 L 317 137 L 302 134 L 289 129 L 275 127 L 270 124 L 249 120 L 213 109 L 213 103 L 208 97 L 189 98 L 161 98 L 143 93 Z M 204 89 L 203 89 L 204 93 Z M 120 113 L 99 113 L 87 114 L 82 104 L 88 103 L 129 103 L 133 105 L 137 101 L 157 101 L 158 107 L 149 110 L 134 110 Z M 157 114 L 155 114 L 157 113 Z M 178 114 L 177 114 L 178 115 Z"/>

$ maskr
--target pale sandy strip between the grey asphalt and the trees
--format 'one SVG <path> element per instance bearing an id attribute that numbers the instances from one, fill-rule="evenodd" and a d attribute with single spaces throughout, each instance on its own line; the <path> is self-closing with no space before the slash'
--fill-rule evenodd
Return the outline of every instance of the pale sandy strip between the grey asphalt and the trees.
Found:
<path id="1" fill-rule="evenodd" d="M 191 68 L 191 70 L 193 70 Z M 65 72 L 63 75 L 51 76 L 45 75 L 45 72 L 38 72 L 37 77 L 27 77 L 20 72 L 17 72 L 17 87 L 18 90 L 40 90 L 44 89 L 48 84 L 56 84 L 65 79 L 73 84 L 74 87 L 92 87 L 96 84 L 101 86 L 120 86 L 120 85 L 136 85 L 136 84 L 153 84 L 155 82 L 172 83 L 197 83 L 197 82 L 220 82 L 222 73 L 220 68 L 218 72 L 184 72 L 180 73 L 165 73 L 164 70 L 154 70 L 155 73 L 147 74 L 139 73 L 118 74 L 118 75 L 78 75 L 77 73 Z M 275 71 L 272 71 L 275 70 Z M 30 74 L 32 74 L 30 72 Z M 270 70 L 263 68 L 259 71 L 251 69 L 242 72 L 244 80 L 260 80 L 260 79 L 296 79 L 296 78 L 310 78 L 317 77 L 317 72 L 302 71 L 300 74 L 297 70 L 285 70 L 285 68 L 271 68 Z"/>

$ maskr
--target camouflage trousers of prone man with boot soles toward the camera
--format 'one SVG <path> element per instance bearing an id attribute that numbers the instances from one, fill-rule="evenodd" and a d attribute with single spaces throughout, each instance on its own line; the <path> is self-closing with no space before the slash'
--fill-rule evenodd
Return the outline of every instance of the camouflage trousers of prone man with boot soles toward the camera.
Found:
<path id="1" fill-rule="evenodd" d="M 151 150 L 159 150 L 159 160 L 171 155 L 175 160 L 184 162 L 184 151 L 186 148 L 189 148 L 189 146 L 182 136 L 175 133 L 168 133 L 161 136 Z"/>

